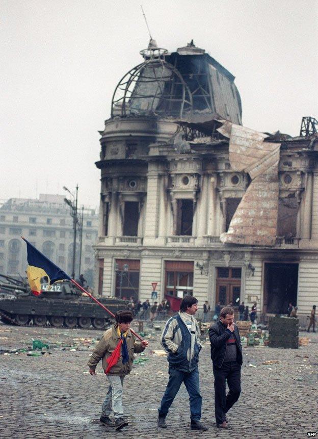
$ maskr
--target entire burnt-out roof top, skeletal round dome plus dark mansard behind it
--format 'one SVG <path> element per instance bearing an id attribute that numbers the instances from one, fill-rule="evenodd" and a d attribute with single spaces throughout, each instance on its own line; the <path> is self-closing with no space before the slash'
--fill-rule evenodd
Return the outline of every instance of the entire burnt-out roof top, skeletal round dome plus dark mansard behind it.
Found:
<path id="1" fill-rule="evenodd" d="M 150 40 L 144 62 L 119 81 L 112 100 L 115 116 L 158 116 L 242 124 L 241 97 L 234 76 L 191 41 L 168 54 Z"/>

